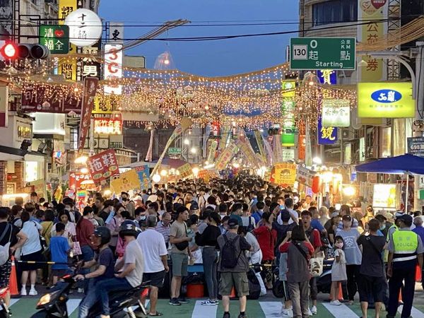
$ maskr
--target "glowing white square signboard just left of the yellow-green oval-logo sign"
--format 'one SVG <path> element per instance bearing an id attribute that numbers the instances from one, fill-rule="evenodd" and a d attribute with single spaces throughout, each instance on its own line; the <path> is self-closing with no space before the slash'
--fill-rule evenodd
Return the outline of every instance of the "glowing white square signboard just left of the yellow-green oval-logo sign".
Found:
<path id="1" fill-rule="evenodd" d="M 348 127 L 351 125 L 349 100 L 322 100 L 322 126 Z"/>

